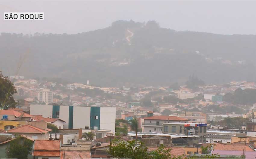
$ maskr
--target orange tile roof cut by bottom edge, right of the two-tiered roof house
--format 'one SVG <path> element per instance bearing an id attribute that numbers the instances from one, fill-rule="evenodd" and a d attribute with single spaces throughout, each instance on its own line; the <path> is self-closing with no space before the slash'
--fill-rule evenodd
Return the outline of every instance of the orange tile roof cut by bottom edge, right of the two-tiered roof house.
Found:
<path id="1" fill-rule="evenodd" d="M 91 152 L 90 151 L 61 151 L 61 159 L 76 159 L 76 158 L 92 158 Z"/>

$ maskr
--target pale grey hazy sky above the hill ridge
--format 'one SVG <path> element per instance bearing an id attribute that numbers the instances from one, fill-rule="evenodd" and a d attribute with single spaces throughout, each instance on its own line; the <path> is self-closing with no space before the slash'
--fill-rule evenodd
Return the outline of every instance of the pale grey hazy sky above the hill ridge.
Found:
<path id="1" fill-rule="evenodd" d="M 0 1 L 0 32 L 74 34 L 132 19 L 177 31 L 256 34 L 255 6 L 256 1 Z M 45 20 L 3 20 L 4 12 L 44 12 Z"/>

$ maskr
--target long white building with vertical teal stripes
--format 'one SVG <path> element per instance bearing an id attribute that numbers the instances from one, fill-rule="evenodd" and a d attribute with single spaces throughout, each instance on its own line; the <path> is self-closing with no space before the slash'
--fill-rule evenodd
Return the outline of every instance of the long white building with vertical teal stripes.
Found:
<path id="1" fill-rule="evenodd" d="M 64 129 L 90 128 L 115 132 L 115 107 L 30 105 L 30 115 L 42 115 L 44 118 L 60 118 L 66 121 L 63 124 Z"/>

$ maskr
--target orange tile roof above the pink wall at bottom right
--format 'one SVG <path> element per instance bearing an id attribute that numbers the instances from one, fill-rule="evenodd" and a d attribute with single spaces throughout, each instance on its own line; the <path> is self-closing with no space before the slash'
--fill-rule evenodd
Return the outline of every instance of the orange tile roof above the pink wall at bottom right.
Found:
<path id="1" fill-rule="evenodd" d="M 214 150 L 226 150 L 226 151 L 254 151 L 248 145 L 239 144 L 214 144 Z"/>

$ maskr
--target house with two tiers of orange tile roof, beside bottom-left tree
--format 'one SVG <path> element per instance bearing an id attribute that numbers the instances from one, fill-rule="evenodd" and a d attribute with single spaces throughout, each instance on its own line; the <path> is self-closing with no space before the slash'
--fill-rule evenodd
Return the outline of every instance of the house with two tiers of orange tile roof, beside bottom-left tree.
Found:
<path id="1" fill-rule="evenodd" d="M 33 157 L 35 159 L 60 159 L 60 140 L 34 140 Z"/>

